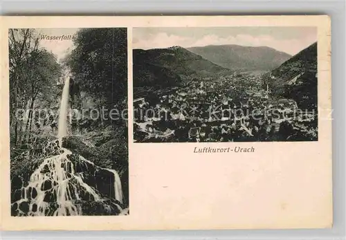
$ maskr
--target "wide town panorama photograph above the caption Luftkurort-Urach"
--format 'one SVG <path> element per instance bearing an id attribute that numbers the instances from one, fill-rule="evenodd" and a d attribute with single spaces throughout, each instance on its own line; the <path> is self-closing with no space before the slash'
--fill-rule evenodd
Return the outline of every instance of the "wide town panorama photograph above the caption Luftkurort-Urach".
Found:
<path id="1" fill-rule="evenodd" d="M 317 28 L 133 28 L 134 142 L 318 140 Z"/>

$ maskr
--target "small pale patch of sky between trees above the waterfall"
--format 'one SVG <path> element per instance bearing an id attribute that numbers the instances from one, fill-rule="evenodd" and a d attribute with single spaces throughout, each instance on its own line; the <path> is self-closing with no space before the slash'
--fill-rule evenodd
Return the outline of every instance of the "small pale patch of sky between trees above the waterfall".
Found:
<path id="1" fill-rule="evenodd" d="M 56 29 L 37 29 L 39 36 L 62 36 L 62 35 L 74 35 L 77 33 L 78 28 L 56 28 Z M 39 45 L 51 51 L 57 56 L 58 60 L 64 59 L 68 53 L 73 49 L 72 40 L 46 40 L 40 39 Z"/>

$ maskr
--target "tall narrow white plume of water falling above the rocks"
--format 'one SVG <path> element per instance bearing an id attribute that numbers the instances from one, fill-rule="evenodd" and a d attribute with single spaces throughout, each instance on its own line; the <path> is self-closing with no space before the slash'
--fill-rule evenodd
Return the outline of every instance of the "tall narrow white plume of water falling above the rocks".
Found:
<path id="1" fill-rule="evenodd" d="M 62 146 L 62 138 L 67 135 L 66 117 L 67 107 L 69 105 L 69 87 L 70 77 L 66 77 L 64 89 L 62 90 L 62 100 L 60 101 L 59 121 L 57 122 L 57 138 L 59 138 L 60 147 Z"/>

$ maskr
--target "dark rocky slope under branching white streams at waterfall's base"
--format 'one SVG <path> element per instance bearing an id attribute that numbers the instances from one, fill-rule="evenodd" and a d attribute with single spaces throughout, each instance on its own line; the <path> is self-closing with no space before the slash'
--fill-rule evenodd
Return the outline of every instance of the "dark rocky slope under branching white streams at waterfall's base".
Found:
<path id="1" fill-rule="evenodd" d="M 118 172 L 93 162 L 102 162 L 102 151 L 73 137 L 65 138 L 63 146 L 72 151 L 62 147 L 12 177 L 12 216 L 123 214 Z"/>

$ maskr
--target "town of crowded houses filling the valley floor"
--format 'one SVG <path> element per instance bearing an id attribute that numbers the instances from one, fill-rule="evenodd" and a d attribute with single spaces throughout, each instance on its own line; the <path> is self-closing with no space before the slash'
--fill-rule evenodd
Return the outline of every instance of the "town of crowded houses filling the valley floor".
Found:
<path id="1" fill-rule="evenodd" d="M 255 75 L 191 79 L 134 100 L 136 142 L 316 140 L 317 112 L 271 94 Z"/>

